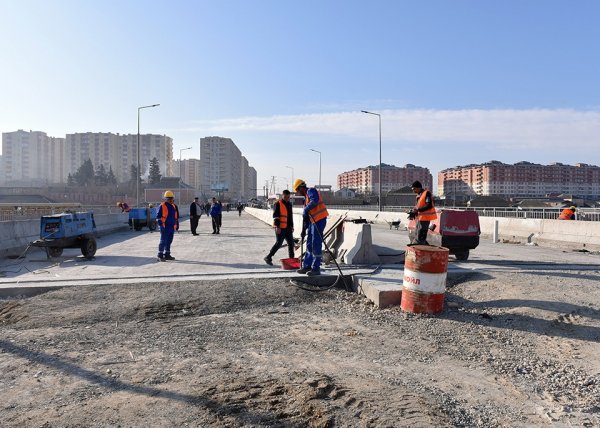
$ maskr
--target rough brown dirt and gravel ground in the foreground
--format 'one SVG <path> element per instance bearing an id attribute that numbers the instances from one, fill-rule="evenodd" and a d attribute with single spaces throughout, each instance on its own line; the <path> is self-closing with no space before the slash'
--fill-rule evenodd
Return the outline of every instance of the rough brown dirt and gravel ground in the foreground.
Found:
<path id="1" fill-rule="evenodd" d="M 2 426 L 600 426 L 600 272 L 449 280 L 438 316 L 287 280 L 0 301 Z"/>

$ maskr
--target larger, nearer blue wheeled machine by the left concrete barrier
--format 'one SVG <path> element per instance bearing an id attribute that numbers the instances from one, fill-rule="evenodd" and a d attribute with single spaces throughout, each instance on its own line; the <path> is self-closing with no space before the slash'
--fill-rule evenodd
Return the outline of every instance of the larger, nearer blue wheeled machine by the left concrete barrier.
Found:
<path id="1" fill-rule="evenodd" d="M 40 239 L 31 245 L 45 248 L 48 258 L 59 257 L 64 248 L 79 248 L 91 259 L 97 249 L 95 233 L 92 212 L 45 215 L 40 221 Z"/>

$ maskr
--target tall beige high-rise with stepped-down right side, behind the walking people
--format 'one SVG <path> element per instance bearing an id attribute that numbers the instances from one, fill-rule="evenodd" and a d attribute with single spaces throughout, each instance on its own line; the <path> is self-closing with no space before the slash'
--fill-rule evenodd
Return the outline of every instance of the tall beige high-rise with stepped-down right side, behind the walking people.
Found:
<path id="1" fill-rule="evenodd" d="M 243 159 L 231 138 L 201 138 L 202 192 L 206 195 L 220 194 L 231 200 L 255 196 L 254 190 L 250 195 L 245 193 L 256 187 L 256 170 L 250 166 L 246 168 Z"/>

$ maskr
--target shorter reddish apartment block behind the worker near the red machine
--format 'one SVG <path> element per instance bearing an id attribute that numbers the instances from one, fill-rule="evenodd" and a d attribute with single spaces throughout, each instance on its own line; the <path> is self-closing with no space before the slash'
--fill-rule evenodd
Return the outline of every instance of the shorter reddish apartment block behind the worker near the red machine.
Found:
<path id="1" fill-rule="evenodd" d="M 381 192 L 383 194 L 390 190 L 410 186 L 415 180 L 419 180 L 423 187 L 431 189 L 433 176 L 428 168 L 413 164 L 406 164 L 403 167 L 381 165 Z M 378 193 L 379 165 L 370 165 L 339 174 L 337 188 L 355 189 L 358 193 Z"/>

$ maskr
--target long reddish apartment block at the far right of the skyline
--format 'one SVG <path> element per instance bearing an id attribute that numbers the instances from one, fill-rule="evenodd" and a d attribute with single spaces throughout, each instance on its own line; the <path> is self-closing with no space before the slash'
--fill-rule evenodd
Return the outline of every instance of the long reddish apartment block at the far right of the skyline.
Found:
<path id="1" fill-rule="evenodd" d="M 577 163 L 540 165 L 531 162 L 505 164 L 490 161 L 448 168 L 438 173 L 438 194 L 544 197 L 548 194 L 573 194 L 600 198 L 600 167 Z"/>

